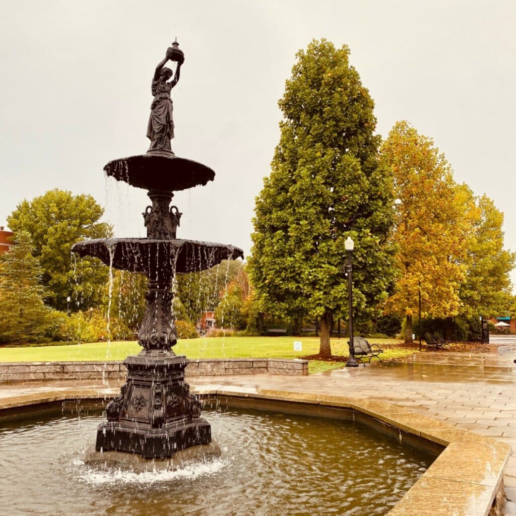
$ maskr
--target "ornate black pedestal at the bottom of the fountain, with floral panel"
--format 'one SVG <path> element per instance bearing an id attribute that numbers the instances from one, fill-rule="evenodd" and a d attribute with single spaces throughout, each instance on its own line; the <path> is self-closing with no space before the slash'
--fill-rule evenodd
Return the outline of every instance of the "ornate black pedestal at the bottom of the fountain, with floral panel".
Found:
<path id="1" fill-rule="evenodd" d="M 98 451 L 129 451 L 167 458 L 176 451 L 208 444 L 211 428 L 201 405 L 184 381 L 188 360 L 170 352 L 143 350 L 127 357 L 127 380 L 107 406 L 107 421 L 97 431 Z"/>

